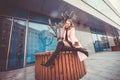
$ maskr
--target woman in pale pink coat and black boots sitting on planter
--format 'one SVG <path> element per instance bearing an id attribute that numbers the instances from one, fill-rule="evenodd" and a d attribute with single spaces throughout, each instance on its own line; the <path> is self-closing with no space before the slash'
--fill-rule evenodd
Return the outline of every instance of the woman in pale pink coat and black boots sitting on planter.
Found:
<path id="1" fill-rule="evenodd" d="M 63 26 L 61 37 L 58 41 L 55 52 L 45 64 L 41 65 L 45 67 L 54 65 L 54 60 L 60 51 L 80 51 L 88 56 L 88 52 L 81 48 L 80 43 L 75 37 L 75 28 L 71 19 L 67 19 Z"/>

